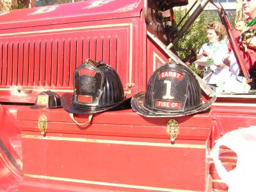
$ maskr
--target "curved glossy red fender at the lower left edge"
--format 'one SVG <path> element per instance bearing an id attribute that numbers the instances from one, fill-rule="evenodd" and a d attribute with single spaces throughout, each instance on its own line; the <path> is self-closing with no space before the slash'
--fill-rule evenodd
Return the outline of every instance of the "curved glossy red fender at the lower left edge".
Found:
<path id="1" fill-rule="evenodd" d="M 0 122 L 0 191 L 12 192 L 22 180 L 21 132 L 12 109 L 3 105 L 0 105 Z"/>

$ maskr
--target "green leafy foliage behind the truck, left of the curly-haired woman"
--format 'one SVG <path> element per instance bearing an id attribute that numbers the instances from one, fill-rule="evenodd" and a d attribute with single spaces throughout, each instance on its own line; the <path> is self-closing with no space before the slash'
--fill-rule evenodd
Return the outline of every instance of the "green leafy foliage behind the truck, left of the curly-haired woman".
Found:
<path id="1" fill-rule="evenodd" d="M 185 15 L 186 11 L 187 10 L 182 10 L 181 8 L 174 11 L 175 23 L 179 23 L 183 15 Z M 236 15 L 228 16 L 230 17 L 230 22 L 234 23 Z M 182 24 L 186 22 L 186 19 L 184 19 Z M 177 54 L 180 58 L 186 58 L 191 49 L 196 49 L 196 51 L 200 50 L 200 47 L 202 47 L 202 45 L 208 41 L 205 26 L 214 20 L 220 21 L 220 17 L 216 11 L 202 12 L 199 15 L 199 17 L 195 20 L 195 22 L 193 22 L 192 26 L 186 31 L 184 37 L 179 40 L 175 47 L 176 50 L 178 50 L 178 48 L 184 50 L 177 51 Z M 180 26 L 182 26 L 182 24 L 180 24 Z M 196 72 L 196 74 L 202 77 L 204 73 L 203 71 L 197 70 L 194 64 L 190 65 L 190 67 Z"/>

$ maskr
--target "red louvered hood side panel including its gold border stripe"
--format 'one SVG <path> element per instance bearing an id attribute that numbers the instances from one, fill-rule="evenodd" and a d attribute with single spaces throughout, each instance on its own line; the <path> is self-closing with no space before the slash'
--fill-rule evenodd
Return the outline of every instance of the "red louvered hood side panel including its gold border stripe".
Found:
<path id="1" fill-rule="evenodd" d="M 138 81 L 138 72 L 134 70 L 134 57 L 138 56 L 135 48 L 138 44 L 133 40 L 136 36 L 134 26 L 138 20 L 119 21 L 113 24 L 107 21 L 86 22 L 79 23 L 79 26 L 63 25 L 61 28 L 35 27 L 23 31 L 24 35 L 12 35 L 8 31 L 7 38 L 0 36 L 3 42 L 1 100 L 16 102 L 20 98 L 20 102 L 26 99 L 27 102 L 35 102 L 36 94 L 42 89 L 72 91 L 73 72 L 87 58 L 109 61 L 107 64 L 117 70 L 125 92 L 128 92 L 127 85 Z M 19 47 L 15 47 L 12 42 L 19 42 Z M 13 68 L 16 65 L 14 60 L 18 60 L 18 68 Z M 9 92 L 6 86 L 15 85 L 15 78 L 18 79 L 19 90 L 31 90 L 29 95 L 24 95 L 22 91 L 20 95 L 5 96 Z M 138 87 L 132 89 L 132 93 L 137 91 Z"/>

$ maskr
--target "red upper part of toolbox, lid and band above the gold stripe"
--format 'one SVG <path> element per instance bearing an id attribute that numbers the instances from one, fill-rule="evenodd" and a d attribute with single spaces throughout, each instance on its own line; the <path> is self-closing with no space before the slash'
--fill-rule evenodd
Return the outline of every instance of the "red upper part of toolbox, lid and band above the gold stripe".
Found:
<path id="1" fill-rule="evenodd" d="M 49 132 L 63 132 L 83 134 L 88 132 L 92 135 L 105 136 L 128 136 L 140 138 L 165 138 L 166 122 L 170 118 L 145 118 L 127 109 L 123 111 L 109 111 L 93 115 L 92 124 L 79 127 L 74 124 L 69 114 L 64 109 L 30 109 L 24 107 L 19 109 L 17 124 L 23 131 L 38 131 L 36 129 L 39 116 L 45 115 L 48 118 Z M 125 116 L 125 118 L 124 118 Z M 32 117 L 32 118 L 31 118 Z M 75 116 L 77 122 L 86 122 L 88 115 Z M 196 116 L 184 116 L 177 118 L 180 126 L 179 138 L 181 140 L 207 140 L 210 134 L 210 118 L 208 113 Z M 29 126 L 28 126 L 29 122 Z M 67 122 L 58 125 L 59 122 Z M 100 126 L 104 126 L 102 127 Z M 159 128 L 160 127 L 160 128 Z M 194 129 L 195 128 L 195 129 Z"/>

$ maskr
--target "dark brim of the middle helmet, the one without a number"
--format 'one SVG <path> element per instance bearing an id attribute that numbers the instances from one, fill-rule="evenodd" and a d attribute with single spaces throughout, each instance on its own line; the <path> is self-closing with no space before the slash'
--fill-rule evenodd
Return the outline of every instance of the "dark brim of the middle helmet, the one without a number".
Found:
<path id="1" fill-rule="evenodd" d="M 100 113 L 104 111 L 110 111 L 110 110 L 121 110 L 121 109 L 129 109 L 131 108 L 131 97 L 128 99 L 125 99 L 122 102 L 118 102 L 117 104 L 113 106 L 108 106 L 105 108 L 99 108 L 99 107 L 79 107 L 79 106 L 73 106 L 72 105 L 72 99 L 73 95 L 71 93 L 65 93 L 61 97 L 61 106 L 68 111 L 68 113 L 76 113 L 76 114 L 93 114 L 93 113 Z"/>

